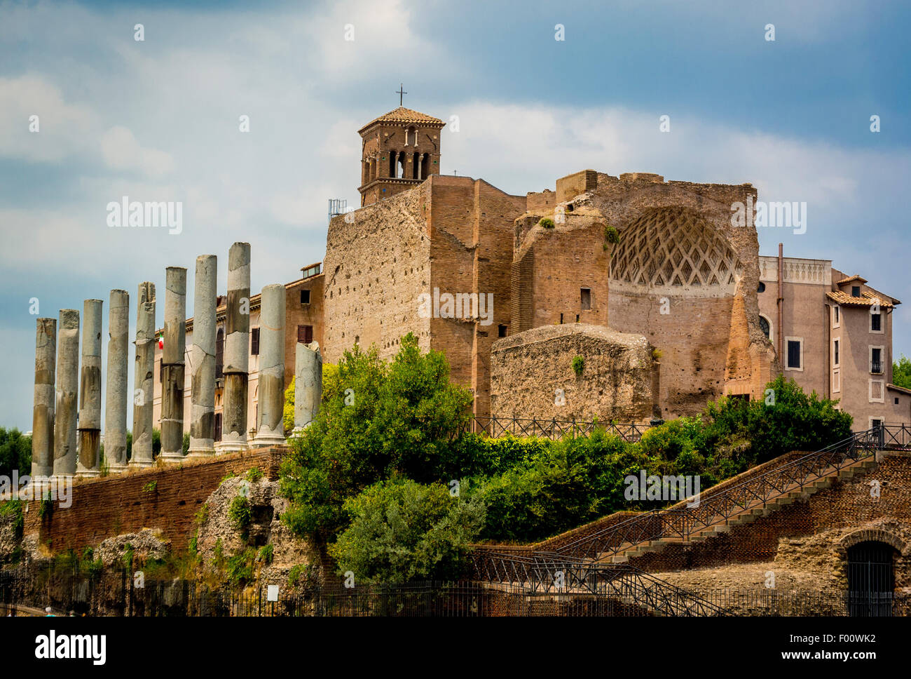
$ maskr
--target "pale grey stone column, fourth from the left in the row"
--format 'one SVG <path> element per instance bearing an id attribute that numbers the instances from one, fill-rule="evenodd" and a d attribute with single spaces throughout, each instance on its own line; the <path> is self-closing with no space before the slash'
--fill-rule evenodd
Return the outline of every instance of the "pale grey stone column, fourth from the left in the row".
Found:
<path id="1" fill-rule="evenodd" d="M 105 380 L 105 462 L 108 474 L 127 468 L 129 293 L 112 290 L 107 308 Z"/>

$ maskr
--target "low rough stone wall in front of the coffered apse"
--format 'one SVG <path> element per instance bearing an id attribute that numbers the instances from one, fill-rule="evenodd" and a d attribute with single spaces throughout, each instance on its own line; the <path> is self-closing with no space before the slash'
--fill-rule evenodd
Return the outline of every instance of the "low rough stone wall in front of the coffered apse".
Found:
<path id="1" fill-rule="evenodd" d="M 544 325 L 500 340 L 491 355 L 491 410 L 501 417 L 647 422 L 654 365 L 645 337 L 604 326 Z M 581 375 L 573 370 L 582 356 Z M 565 405 L 555 392 L 563 390 Z"/>

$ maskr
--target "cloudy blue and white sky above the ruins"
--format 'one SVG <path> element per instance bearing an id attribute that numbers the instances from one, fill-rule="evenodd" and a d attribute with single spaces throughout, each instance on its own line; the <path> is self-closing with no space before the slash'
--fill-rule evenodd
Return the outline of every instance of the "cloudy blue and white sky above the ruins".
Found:
<path id="1" fill-rule="evenodd" d="M 911 355 L 909 28 L 911 5 L 858 0 L 0 0 L 0 427 L 32 427 L 37 316 L 102 299 L 107 335 L 124 288 L 132 336 L 138 283 L 163 297 L 168 266 L 191 291 L 217 254 L 223 293 L 232 242 L 254 291 L 322 260 L 328 199 L 359 205 L 357 129 L 400 83 L 448 123 L 440 171 L 510 193 L 594 169 L 806 203 L 805 231 L 761 228 L 760 252 L 905 301 Z M 109 226 L 124 196 L 181 203 L 179 232 Z"/>

